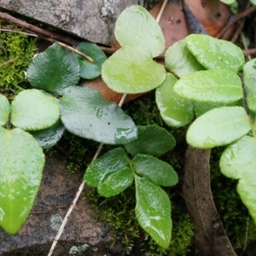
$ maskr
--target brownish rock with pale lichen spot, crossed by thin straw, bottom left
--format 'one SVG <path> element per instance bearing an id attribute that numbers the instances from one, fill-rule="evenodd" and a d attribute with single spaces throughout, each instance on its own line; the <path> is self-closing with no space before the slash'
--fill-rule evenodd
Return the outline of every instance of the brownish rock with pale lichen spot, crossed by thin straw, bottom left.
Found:
<path id="1" fill-rule="evenodd" d="M 0 229 L 0 255 L 47 255 L 82 180 L 82 172 L 67 176 L 65 160 L 61 155 L 47 157 L 38 197 L 26 224 L 15 236 L 9 236 Z M 110 255 L 105 250 L 111 243 L 108 229 L 96 223 L 89 202 L 83 200 L 88 189 L 85 186 L 54 256 L 69 255 L 71 247 L 84 244 L 97 249 L 90 255 Z"/>

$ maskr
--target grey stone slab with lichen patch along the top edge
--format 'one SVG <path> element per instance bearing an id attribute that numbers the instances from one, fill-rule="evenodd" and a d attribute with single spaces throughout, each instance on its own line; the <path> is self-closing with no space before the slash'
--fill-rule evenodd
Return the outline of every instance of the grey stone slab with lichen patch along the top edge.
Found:
<path id="1" fill-rule="evenodd" d="M 0 0 L 0 7 L 43 21 L 91 42 L 112 45 L 113 27 L 120 12 L 132 4 L 144 2 L 147 1 Z"/>

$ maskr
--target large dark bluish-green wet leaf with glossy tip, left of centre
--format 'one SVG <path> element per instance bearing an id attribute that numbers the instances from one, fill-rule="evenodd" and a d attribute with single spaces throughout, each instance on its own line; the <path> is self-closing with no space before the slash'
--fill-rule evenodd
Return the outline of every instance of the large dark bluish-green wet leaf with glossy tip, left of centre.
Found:
<path id="1" fill-rule="evenodd" d="M 106 101 L 98 90 L 68 87 L 59 104 L 63 125 L 79 137 L 106 144 L 130 143 L 137 138 L 131 117 L 116 103 Z"/>

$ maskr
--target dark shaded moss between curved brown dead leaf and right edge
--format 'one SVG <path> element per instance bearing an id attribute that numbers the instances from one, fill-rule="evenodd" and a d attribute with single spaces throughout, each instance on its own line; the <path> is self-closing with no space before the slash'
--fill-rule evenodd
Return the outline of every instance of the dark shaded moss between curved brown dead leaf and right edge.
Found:
<path id="1" fill-rule="evenodd" d="M 223 150 L 224 148 L 212 149 L 212 195 L 224 230 L 236 253 L 240 254 L 248 243 L 256 241 L 256 225 L 236 192 L 238 181 L 224 177 L 220 172 L 218 162 Z"/>

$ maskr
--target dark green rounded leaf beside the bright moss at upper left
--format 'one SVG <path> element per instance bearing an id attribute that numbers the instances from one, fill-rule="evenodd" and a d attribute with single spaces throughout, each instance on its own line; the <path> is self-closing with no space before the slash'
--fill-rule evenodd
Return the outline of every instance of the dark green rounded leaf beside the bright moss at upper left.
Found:
<path id="1" fill-rule="evenodd" d="M 33 87 L 61 95 L 63 89 L 78 84 L 79 69 L 73 51 L 53 44 L 33 58 L 26 76 Z"/>

